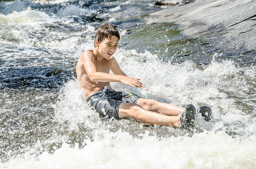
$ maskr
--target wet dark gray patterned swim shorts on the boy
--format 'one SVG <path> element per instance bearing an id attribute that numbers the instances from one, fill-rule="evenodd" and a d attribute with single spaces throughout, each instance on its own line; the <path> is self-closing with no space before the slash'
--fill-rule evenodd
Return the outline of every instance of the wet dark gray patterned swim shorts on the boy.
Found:
<path id="1" fill-rule="evenodd" d="M 91 94 L 87 98 L 87 102 L 100 114 L 100 117 L 114 117 L 119 119 L 119 106 L 122 102 L 137 103 L 142 98 L 133 93 L 116 92 L 112 89 L 101 89 Z"/>

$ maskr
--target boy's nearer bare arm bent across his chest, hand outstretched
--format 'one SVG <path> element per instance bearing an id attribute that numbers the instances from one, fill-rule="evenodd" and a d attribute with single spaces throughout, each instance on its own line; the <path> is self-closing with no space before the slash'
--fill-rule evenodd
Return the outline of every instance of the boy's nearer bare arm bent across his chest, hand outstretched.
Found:
<path id="1" fill-rule="evenodd" d="M 112 75 L 104 72 L 97 72 L 95 67 L 95 61 L 93 54 L 90 51 L 85 51 L 81 55 L 81 59 L 84 64 L 84 68 L 87 75 L 90 77 L 92 82 L 120 82 L 124 85 L 140 86 L 139 79 L 134 77 L 127 77 L 123 75 Z"/>

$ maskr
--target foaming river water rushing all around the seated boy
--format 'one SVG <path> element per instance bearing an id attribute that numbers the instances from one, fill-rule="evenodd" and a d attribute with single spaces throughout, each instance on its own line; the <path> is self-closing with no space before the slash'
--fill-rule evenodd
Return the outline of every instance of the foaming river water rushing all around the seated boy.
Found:
<path id="1" fill-rule="evenodd" d="M 226 56 L 174 23 L 147 24 L 154 0 L 0 2 L 0 168 L 255 168 L 255 55 Z M 212 107 L 194 130 L 101 120 L 76 80 L 81 53 L 109 18 L 121 69 L 150 90 Z M 191 82 L 193 85 L 185 85 Z"/>

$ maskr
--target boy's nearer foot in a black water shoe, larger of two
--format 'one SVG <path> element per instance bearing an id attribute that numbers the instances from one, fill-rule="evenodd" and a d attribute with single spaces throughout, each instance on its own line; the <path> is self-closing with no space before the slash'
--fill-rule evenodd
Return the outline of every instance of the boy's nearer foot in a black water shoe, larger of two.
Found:
<path id="1" fill-rule="evenodd" d="M 186 111 L 179 115 L 182 128 L 190 129 L 194 127 L 194 119 L 196 115 L 196 108 L 189 104 L 186 106 Z"/>

